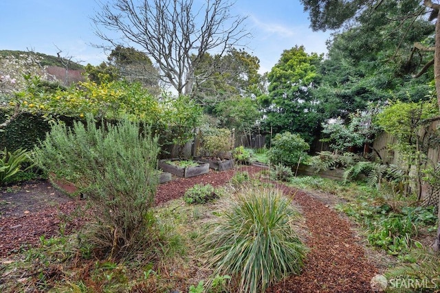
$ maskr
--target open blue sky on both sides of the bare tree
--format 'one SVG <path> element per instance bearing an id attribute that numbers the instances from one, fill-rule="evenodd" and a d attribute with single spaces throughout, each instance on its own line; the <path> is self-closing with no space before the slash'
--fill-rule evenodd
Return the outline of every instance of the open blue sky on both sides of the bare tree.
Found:
<path id="1" fill-rule="evenodd" d="M 73 56 L 83 65 L 106 60 L 90 18 L 95 0 L 0 0 L 0 49 Z M 246 51 L 257 56 L 261 73 L 270 71 L 284 49 L 304 45 L 307 52 L 326 53 L 329 32 L 312 32 L 303 6 L 295 0 L 237 0 L 233 14 L 248 16 L 252 33 Z"/>

